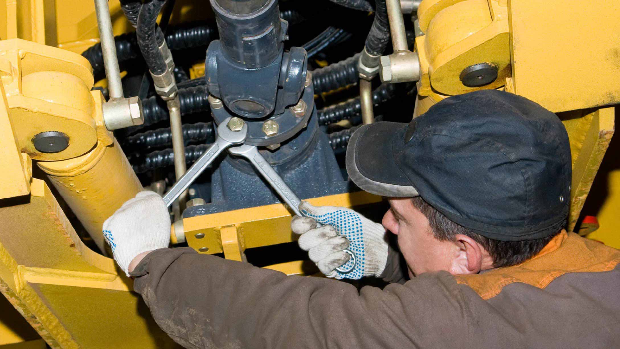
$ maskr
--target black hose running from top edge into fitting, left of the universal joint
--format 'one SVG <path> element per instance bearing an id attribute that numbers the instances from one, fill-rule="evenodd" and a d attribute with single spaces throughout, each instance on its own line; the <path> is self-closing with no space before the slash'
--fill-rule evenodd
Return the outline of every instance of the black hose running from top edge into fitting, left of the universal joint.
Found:
<path id="1" fill-rule="evenodd" d="M 166 73 L 166 61 L 164 61 L 164 57 L 159 52 L 159 45 L 157 45 L 157 38 L 161 33 L 158 33 L 156 22 L 157 15 L 159 15 L 164 4 L 166 4 L 165 0 L 153 0 L 143 4 L 138 15 L 138 27 L 136 27 L 140 51 L 149 71 L 155 75 Z"/>

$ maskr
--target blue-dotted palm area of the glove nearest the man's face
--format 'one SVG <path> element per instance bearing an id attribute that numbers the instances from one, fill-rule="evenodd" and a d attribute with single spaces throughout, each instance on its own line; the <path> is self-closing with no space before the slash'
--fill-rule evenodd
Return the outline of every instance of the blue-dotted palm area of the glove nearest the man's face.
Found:
<path id="1" fill-rule="evenodd" d="M 340 236 L 347 237 L 349 241 L 349 250 L 355 255 L 357 263 L 351 272 L 341 273 L 336 270 L 336 276 L 340 279 L 358 280 L 364 276 L 365 271 L 365 251 L 364 251 L 364 233 L 361 226 L 361 217 L 352 211 L 337 210 L 325 214 L 311 214 L 307 211 L 301 211 L 305 216 L 314 218 L 317 223 L 333 226 Z M 342 265 L 344 270 L 351 268 L 353 258 Z"/>

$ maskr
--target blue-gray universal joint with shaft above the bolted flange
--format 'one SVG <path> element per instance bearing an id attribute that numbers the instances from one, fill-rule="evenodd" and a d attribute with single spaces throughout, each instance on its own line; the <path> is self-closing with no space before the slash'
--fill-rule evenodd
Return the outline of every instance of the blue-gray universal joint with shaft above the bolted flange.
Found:
<path id="1" fill-rule="evenodd" d="M 296 104 L 308 60 L 303 48 L 284 53 L 288 23 L 280 19 L 278 1 L 211 0 L 211 5 L 220 39 L 206 54 L 209 93 L 246 118 L 282 113 Z"/>

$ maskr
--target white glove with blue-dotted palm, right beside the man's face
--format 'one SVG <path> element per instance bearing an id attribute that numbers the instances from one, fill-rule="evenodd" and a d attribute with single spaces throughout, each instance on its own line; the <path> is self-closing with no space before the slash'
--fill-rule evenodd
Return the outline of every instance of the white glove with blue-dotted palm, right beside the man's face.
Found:
<path id="1" fill-rule="evenodd" d="M 299 205 L 306 217 L 294 217 L 291 228 L 299 237 L 299 247 L 308 251 L 312 262 L 329 278 L 360 279 L 362 276 L 380 276 L 387 262 L 386 229 L 348 208 Z M 316 228 L 317 223 L 324 224 Z M 350 273 L 335 270 L 351 258 L 344 249 L 357 258 Z"/>

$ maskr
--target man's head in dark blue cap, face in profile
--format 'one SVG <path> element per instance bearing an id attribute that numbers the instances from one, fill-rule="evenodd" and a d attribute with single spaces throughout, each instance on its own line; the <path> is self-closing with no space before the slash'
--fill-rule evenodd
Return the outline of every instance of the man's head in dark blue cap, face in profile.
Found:
<path id="1" fill-rule="evenodd" d="M 414 275 L 523 262 L 562 229 L 569 208 L 564 126 L 507 92 L 449 97 L 408 125 L 363 126 L 347 169 L 360 188 L 391 198 L 383 224 Z"/>

